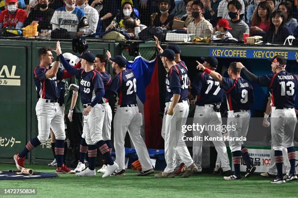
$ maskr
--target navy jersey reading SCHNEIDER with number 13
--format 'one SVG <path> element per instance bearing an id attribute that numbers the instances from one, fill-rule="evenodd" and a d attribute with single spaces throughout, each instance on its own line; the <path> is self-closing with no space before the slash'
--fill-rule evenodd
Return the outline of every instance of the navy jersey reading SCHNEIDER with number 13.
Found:
<path id="1" fill-rule="evenodd" d="M 297 75 L 285 70 L 277 74 L 259 76 L 261 86 L 267 86 L 270 89 L 272 106 L 277 108 L 293 108 L 297 91 Z"/>

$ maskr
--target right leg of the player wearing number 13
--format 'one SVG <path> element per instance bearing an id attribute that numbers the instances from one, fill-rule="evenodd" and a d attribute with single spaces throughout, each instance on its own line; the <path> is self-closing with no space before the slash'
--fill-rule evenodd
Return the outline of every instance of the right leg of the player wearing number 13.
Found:
<path id="1" fill-rule="evenodd" d="M 284 127 L 284 138 L 283 138 L 283 145 L 287 148 L 288 151 L 288 160 L 290 162 L 290 172 L 289 178 L 286 181 L 294 181 L 297 180 L 296 170 L 295 170 L 295 163 L 296 163 L 296 150 L 294 147 L 294 132 L 297 124 L 297 118 L 294 108 L 287 109 L 285 111 L 285 127 Z"/>

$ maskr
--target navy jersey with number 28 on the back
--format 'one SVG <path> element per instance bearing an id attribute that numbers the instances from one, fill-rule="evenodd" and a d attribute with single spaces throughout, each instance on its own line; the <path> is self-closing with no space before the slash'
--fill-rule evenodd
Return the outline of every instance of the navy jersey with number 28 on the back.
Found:
<path id="1" fill-rule="evenodd" d="M 136 104 L 136 78 L 132 70 L 122 70 L 108 88 L 118 97 L 118 105 Z"/>

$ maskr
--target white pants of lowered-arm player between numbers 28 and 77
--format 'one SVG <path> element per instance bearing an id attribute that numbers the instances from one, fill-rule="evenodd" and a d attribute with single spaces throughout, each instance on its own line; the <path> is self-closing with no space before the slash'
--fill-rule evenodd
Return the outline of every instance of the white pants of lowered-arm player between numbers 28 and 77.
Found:
<path id="1" fill-rule="evenodd" d="M 171 105 L 171 102 L 169 102 Z M 186 124 L 188 115 L 188 103 L 183 101 L 177 103 L 173 115 L 166 116 L 165 129 L 165 158 L 167 167 L 164 172 L 170 173 L 175 169 L 176 152 L 179 154 L 186 167 L 193 164 L 185 142 L 182 140 L 182 125 Z"/>

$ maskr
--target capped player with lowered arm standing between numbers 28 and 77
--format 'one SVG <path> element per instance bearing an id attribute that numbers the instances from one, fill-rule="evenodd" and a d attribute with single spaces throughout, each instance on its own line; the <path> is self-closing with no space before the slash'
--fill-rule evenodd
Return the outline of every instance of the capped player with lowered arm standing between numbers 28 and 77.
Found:
<path id="1" fill-rule="evenodd" d="M 188 76 L 186 67 L 175 63 L 175 52 L 171 49 L 165 49 L 163 53 L 158 54 L 161 57 L 163 65 L 168 68 L 166 79 L 166 89 L 169 92 L 170 101 L 166 116 L 165 129 L 165 158 L 167 167 L 156 178 L 174 178 L 175 177 L 175 159 L 176 151 L 181 160 L 186 164 L 186 171 L 182 177 L 192 175 L 198 168 L 193 163 L 185 142 L 182 140 L 181 127 L 186 123 L 188 115 Z M 165 117 L 164 117 L 165 119 Z"/>

